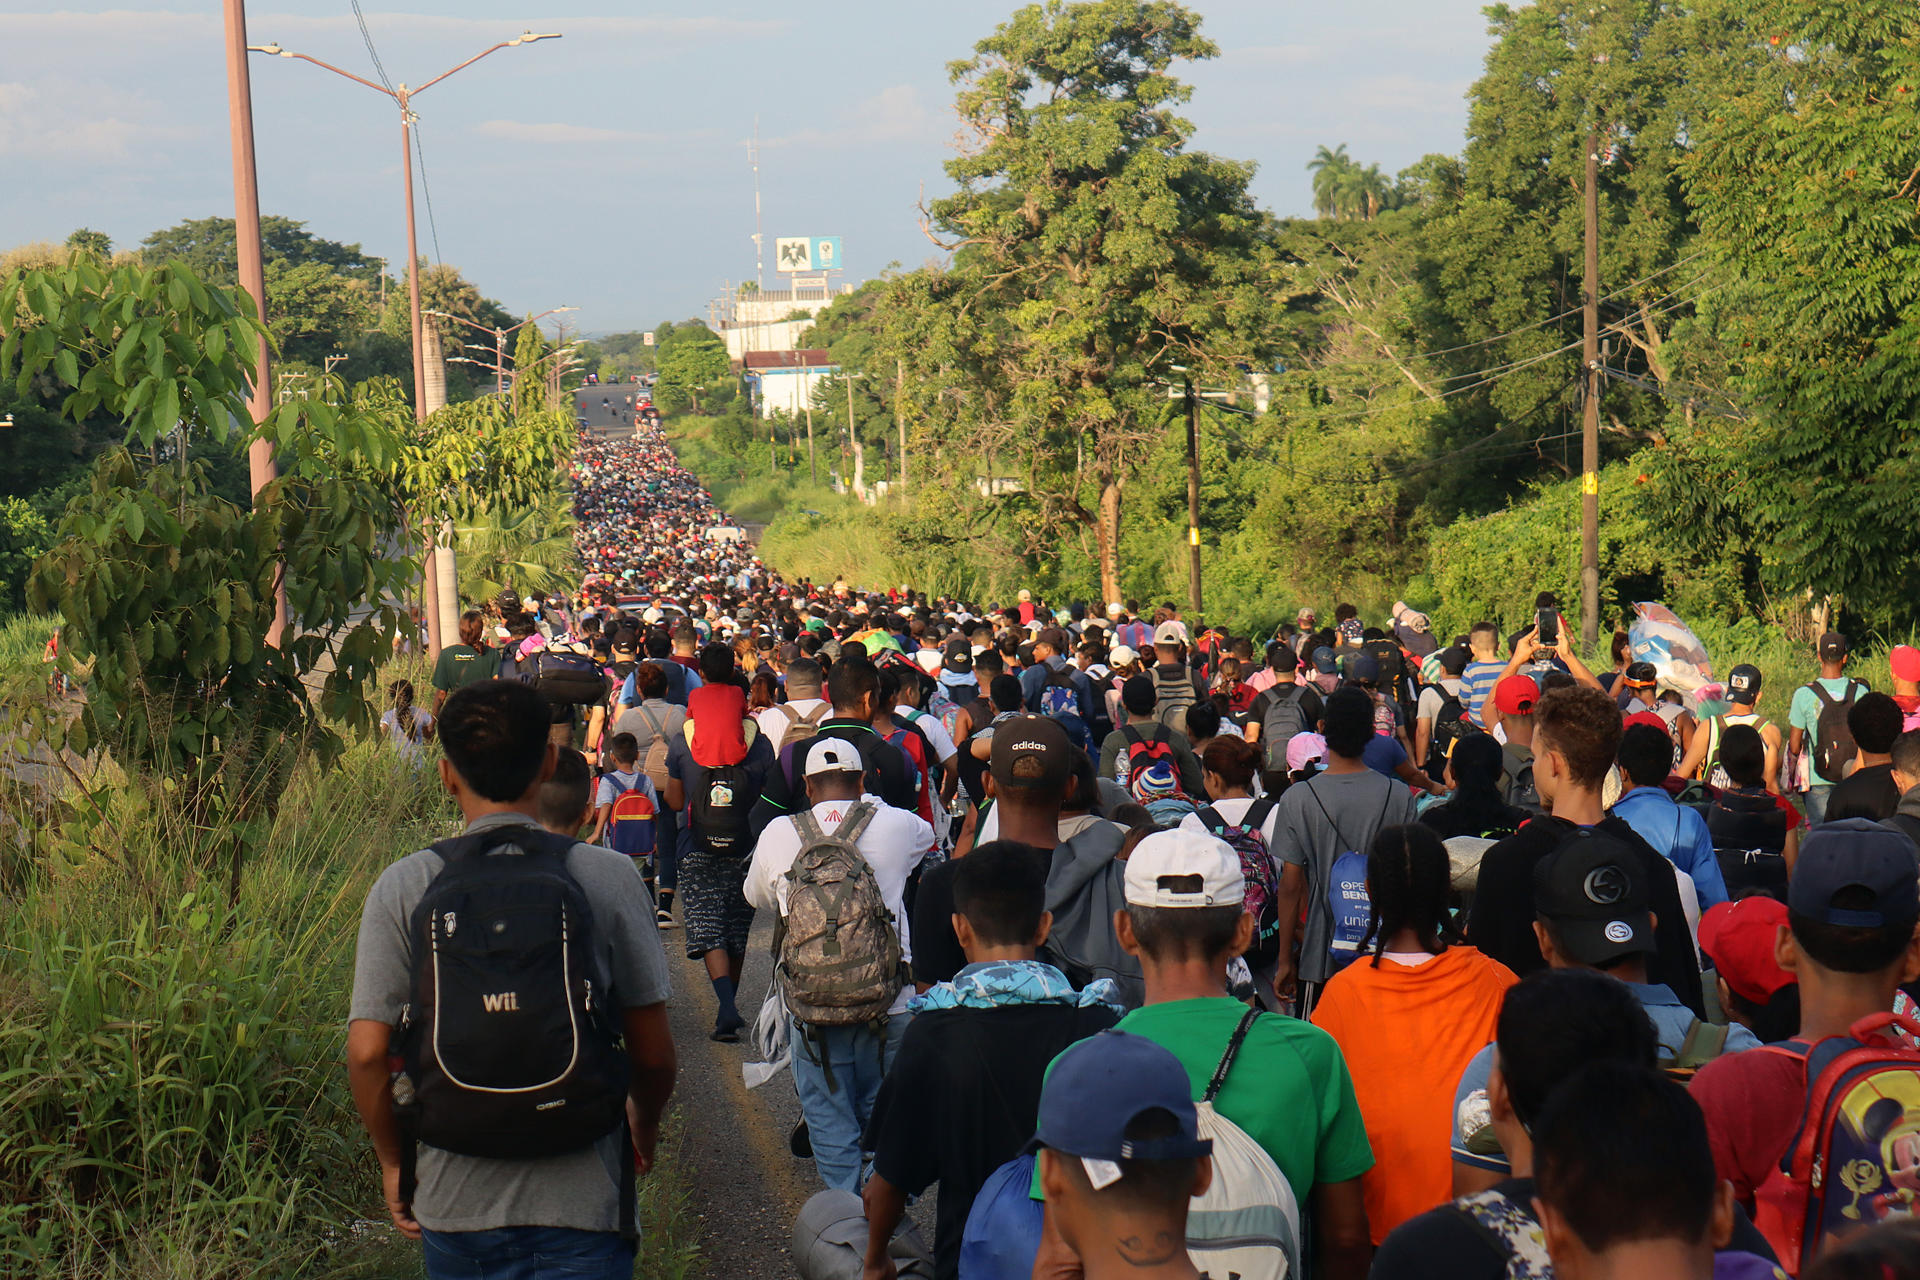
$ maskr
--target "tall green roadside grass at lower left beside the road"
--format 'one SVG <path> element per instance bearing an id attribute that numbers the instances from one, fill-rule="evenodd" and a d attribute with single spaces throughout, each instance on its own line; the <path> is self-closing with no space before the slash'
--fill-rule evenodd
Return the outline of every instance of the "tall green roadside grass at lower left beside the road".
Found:
<path id="1" fill-rule="evenodd" d="M 44 620 L 0 622 L 0 679 L 38 679 L 42 643 Z M 223 831 L 111 764 L 79 771 L 102 808 L 58 787 L 0 814 L 0 1274 L 419 1276 L 344 1057 L 367 889 L 459 827 L 434 773 L 380 741 L 301 760 L 228 906 Z M 672 1155 L 643 1188 L 637 1274 L 680 1280 L 697 1259 Z"/>

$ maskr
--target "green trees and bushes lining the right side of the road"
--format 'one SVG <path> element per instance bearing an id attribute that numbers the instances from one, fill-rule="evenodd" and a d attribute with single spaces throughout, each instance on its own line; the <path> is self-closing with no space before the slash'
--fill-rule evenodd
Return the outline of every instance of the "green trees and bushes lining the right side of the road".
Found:
<path id="1" fill-rule="evenodd" d="M 1920 12 L 1542 0 L 1488 19 L 1457 155 L 1388 177 L 1323 148 L 1321 217 L 1275 219 L 1246 201 L 1248 165 L 1187 144 L 1179 71 L 1213 54 L 1190 10 L 1014 13 L 954 63 L 958 192 L 929 209 L 952 253 L 835 299 L 808 336 L 856 374 L 870 472 L 897 470 L 904 416 L 908 505 L 776 522 L 776 566 L 1185 599 L 1165 397 L 1192 372 L 1213 391 L 1208 616 L 1407 595 L 1513 624 L 1540 587 L 1576 597 L 1592 134 L 1605 610 L 1665 599 L 1795 639 L 1830 608 L 1859 635 L 1920 622 Z M 822 415 L 849 426 L 843 384 L 816 434 Z"/>

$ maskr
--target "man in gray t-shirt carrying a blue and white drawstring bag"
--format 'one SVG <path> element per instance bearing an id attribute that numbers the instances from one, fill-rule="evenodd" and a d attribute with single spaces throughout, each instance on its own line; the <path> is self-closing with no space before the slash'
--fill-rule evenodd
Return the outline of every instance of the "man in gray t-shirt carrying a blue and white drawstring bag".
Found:
<path id="1" fill-rule="evenodd" d="M 1302 1017 L 1311 1013 L 1321 984 L 1332 977 L 1327 881 L 1334 860 L 1348 850 L 1365 854 L 1380 829 L 1409 823 L 1415 814 L 1413 793 L 1361 760 L 1373 737 L 1373 699 L 1365 691 L 1346 687 L 1329 695 L 1321 733 L 1327 771 L 1288 787 L 1273 810 L 1273 852 L 1281 858 L 1281 969 L 1273 986 L 1281 1000 L 1290 1000 L 1298 984 Z M 1302 902 L 1308 919 L 1296 973 L 1292 944 Z"/>

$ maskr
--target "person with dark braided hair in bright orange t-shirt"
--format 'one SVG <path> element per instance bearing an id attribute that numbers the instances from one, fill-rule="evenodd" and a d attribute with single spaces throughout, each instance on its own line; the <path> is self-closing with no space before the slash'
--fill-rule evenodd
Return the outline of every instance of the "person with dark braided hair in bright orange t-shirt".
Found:
<path id="1" fill-rule="evenodd" d="M 1356 960 L 1327 981 L 1313 1023 L 1340 1044 L 1373 1144 L 1361 1178 L 1373 1242 L 1453 1196 L 1453 1090 L 1492 1038 L 1513 973 L 1459 940 L 1448 856 L 1419 823 L 1367 850 L 1373 917 Z"/>

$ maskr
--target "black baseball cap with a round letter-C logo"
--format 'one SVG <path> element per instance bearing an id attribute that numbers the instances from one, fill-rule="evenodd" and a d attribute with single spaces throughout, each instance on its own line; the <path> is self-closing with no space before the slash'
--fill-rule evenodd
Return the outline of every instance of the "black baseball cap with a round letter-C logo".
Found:
<path id="1" fill-rule="evenodd" d="M 1603 965 L 1651 952 L 1653 912 L 1634 848 L 1601 831 L 1576 831 L 1534 865 L 1534 912 L 1569 958 Z"/>

